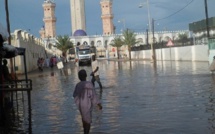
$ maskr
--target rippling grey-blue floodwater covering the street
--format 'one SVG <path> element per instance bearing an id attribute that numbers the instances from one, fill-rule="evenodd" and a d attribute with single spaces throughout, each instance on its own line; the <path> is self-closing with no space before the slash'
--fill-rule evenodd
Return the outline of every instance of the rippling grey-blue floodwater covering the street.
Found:
<path id="1" fill-rule="evenodd" d="M 215 75 L 208 62 L 99 61 L 103 110 L 94 109 L 91 134 L 213 134 Z M 82 134 L 73 100 L 77 72 L 90 66 L 30 73 L 33 134 Z M 25 115 L 25 116 L 24 116 Z M 19 114 L 27 129 L 26 114 Z M 29 132 L 29 130 L 25 130 Z M 23 133 L 23 132 L 22 132 Z"/>

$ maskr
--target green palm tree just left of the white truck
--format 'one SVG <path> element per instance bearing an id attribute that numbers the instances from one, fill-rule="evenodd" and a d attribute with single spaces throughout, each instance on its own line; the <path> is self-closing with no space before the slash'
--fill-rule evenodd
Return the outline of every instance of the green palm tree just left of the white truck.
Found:
<path id="1" fill-rule="evenodd" d="M 67 56 L 67 53 L 66 53 L 67 50 L 74 47 L 68 35 L 64 35 L 64 36 L 59 35 L 57 37 L 56 45 L 57 45 L 56 47 L 62 51 L 62 55 L 65 58 Z M 66 59 L 66 62 L 67 62 L 67 59 Z"/>

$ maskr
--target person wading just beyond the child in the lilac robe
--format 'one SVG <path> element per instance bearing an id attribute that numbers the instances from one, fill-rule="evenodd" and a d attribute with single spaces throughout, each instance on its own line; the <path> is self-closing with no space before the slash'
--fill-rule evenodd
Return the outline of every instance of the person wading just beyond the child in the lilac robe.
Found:
<path id="1" fill-rule="evenodd" d="M 97 83 L 99 84 L 99 87 L 100 87 L 100 91 L 102 91 L 102 83 L 101 83 L 100 77 L 99 77 L 99 67 L 98 67 L 98 62 L 96 60 L 95 55 L 92 56 L 91 65 L 92 65 L 91 82 L 93 83 L 93 86 L 95 86 L 95 81 L 97 81 Z"/>

